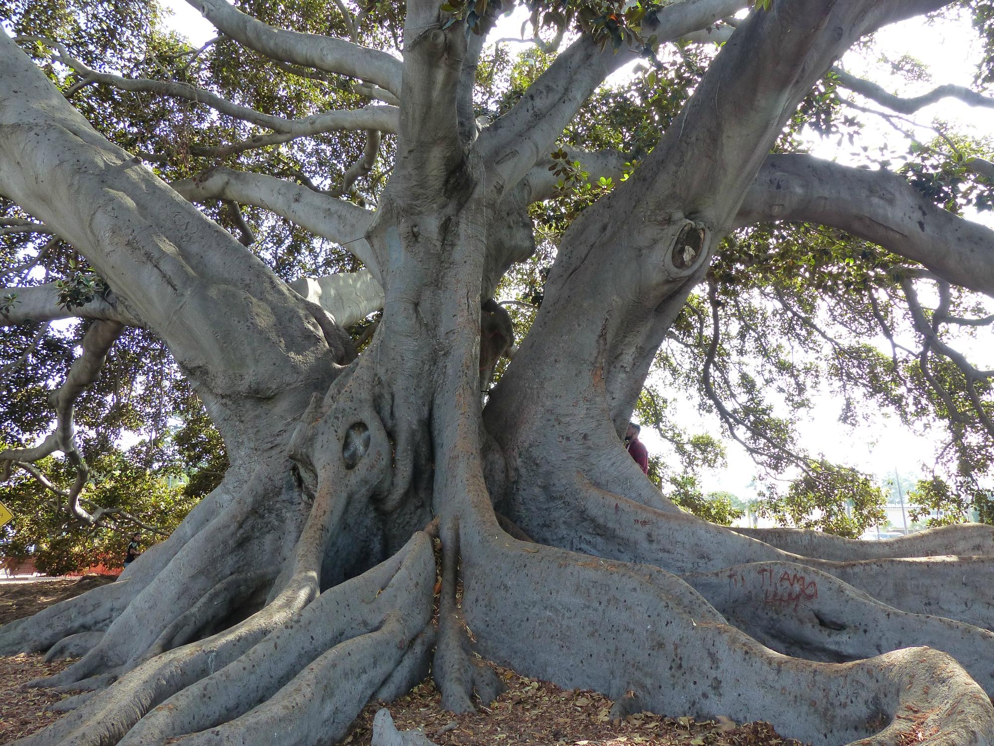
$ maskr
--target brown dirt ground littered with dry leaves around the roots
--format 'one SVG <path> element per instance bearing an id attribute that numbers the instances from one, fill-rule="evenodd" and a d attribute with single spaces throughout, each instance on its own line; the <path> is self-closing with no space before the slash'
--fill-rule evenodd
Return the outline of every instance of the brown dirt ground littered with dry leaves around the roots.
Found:
<path id="1" fill-rule="evenodd" d="M 79 580 L 0 583 L 0 624 L 44 609 L 50 604 L 108 582 L 103 576 Z M 0 744 L 25 736 L 54 720 L 46 708 L 69 696 L 27 688 L 33 678 L 51 675 L 68 660 L 51 663 L 41 655 L 0 656 Z M 728 718 L 696 722 L 643 712 L 611 720 L 613 704 L 593 691 L 560 687 L 494 666 L 507 690 L 489 706 L 466 715 L 443 710 L 430 680 L 408 695 L 384 705 L 371 702 L 341 743 L 369 746 L 373 717 L 387 706 L 398 728 L 420 728 L 439 746 L 506 746 L 568 744 L 569 746 L 802 746 L 780 738 L 767 723 L 739 725 Z"/>

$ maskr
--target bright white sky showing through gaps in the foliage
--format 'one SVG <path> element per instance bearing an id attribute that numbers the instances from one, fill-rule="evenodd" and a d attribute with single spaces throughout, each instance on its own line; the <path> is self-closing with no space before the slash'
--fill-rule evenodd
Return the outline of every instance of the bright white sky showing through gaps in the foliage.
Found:
<path id="1" fill-rule="evenodd" d="M 191 44 L 198 46 L 216 36 L 214 28 L 184 0 L 165 0 L 165 5 L 175 14 L 168 25 L 184 34 Z M 519 9 L 511 16 L 502 18 L 491 32 L 490 38 L 494 40 L 520 37 L 521 24 L 526 17 L 527 13 Z M 847 54 L 843 59 L 843 65 L 848 72 L 870 78 L 891 93 L 913 95 L 926 93 L 934 86 L 946 83 L 969 86 L 980 54 L 980 42 L 963 14 L 954 20 L 914 19 L 887 27 L 878 32 L 868 48 Z M 896 61 L 904 55 L 910 55 L 922 63 L 930 75 L 930 80 L 909 84 L 903 78 L 894 75 L 881 60 L 886 56 Z M 634 63 L 628 67 L 628 70 L 633 66 Z M 623 80 L 623 75 L 623 73 L 620 76 L 616 74 L 614 80 L 619 78 Z M 837 138 L 826 140 L 812 138 L 812 152 L 842 163 L 857 164 L 861 162 L 860 145 L 867 145 L 871 150 L 893 145 L 895 152 L 890 157 L 900 161 L 907 149 L 904 137 L 878 117 L 863 114 L 860 118 L 868 126 L 856 148 L 849 148 L 845 144 L 840 147 Z M 954 124 L 955 129 L 964 134 L 990 137 L 994 140 L 994 117 L 991 116 L 990 109 L 971 108 L 957 100 L 942 100 L 921 109 L 910 118 L 922 125 L 930 124 L 936 118 L 942 119 Z M 911 125 L 908 126 L 913 128 Z M 914 131 L 916 138 L 921 141 L 931 140 L 934 136 L 926 126 L 918 127 Z M 851 149 L 855 152 L 851 153 Z M 994 227 L 994 223 L 989 222 L 991 220 L 989 214 L 983 216 L 983 219 Z M 981 334 L 987 336 L 982 336 L 970 347 L 983 353 L 992 349 L 989 345 L 991 330 L 985 329 Z M 702 423 L 701 417 L 691 405 L 685 403 L 683 410 L 678 407 L 677 412 L 678 420 L 688 424 L 697 432 L 703 428 L 713 435 L 721 435 L 717 423 Z M 941 437 L 941 433 L 908 432 L 897 420 L 890 419 L 883 413 L 871 417 L 869 423 L 859 428 L 850 429 L 839 423 L 840 412 L 839 403 L 827 392 L 815 397 L 815 408 L 811 416 L 798 424 L 802 443 L 806 444 L 814 454 L 824 455 L 837 463 L 865 469 L 882 478 L 893 475 L 895 468 L 900 468 L 902 473 L 916 471 L 920 464 L 930 462 L 935 440 Z M 661 442 L 654 433 L 643 431 L 643 440 L 650 452 L 658 453 L 663 450 Z M 738 445 L 730 443 L 728 450 L 728 467 L 708 475 L 704 479 L 703 486 L 706 490 L 727 489 L 748 498 L 754 494 L 750 482 L 755 467 Z"/>

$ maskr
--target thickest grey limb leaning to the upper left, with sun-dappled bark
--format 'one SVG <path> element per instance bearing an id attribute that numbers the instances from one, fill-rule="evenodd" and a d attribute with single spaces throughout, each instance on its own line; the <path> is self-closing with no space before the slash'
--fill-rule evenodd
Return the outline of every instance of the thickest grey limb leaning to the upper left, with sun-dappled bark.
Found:
<path id="1" fill-rule="evenodd" d="M 303 299 L 95 132 L 5 34 L 0 78 L 0 193 L 72 244 L 123 306 L 168 344 L 202 385 L 223 430 L 270 415 L 284 422 L 285 414 L 276 414 L 280 403 L 303 396 L 300 387 L 326 381 L 332 370 Z M 236 399 L 237 408 L 223 403 Z M 240 431 L 248 436 L 250 429 Z M 250 448 L 251 441 L 232 446 Z"/>

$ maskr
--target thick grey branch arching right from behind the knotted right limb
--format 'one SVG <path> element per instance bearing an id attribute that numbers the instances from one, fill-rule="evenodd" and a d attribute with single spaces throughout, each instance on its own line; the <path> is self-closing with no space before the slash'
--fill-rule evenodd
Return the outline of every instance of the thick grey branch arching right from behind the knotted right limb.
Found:
<path id="1" fill-rule="evenodd" d="M 994 231 L 936 207 L 890 171 L 770 155 L 736 224 L 777 220 L 841 228 L 942 280 L 994 296 Z"/>

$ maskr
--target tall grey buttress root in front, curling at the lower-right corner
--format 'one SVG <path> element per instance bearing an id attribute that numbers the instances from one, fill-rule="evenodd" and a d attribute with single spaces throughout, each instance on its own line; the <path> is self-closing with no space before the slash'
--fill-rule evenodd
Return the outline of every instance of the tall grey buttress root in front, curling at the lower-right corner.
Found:
<path id="1" fill-rule="evenodd" d="M 534 675 L 612 697 L 633 689 L 657 712 L 768 717 L 784 735 L 826 746 L 893 744 L 911 729 L 899 717 L 911 711 L 927 713 L 942 734 L 921 743 L 994 742 L 990 699 L 945 653 L 787 657 L 666 572 L 521 544 L 495 528 L 484 515 L 462 528 L 464 608 L 489 657 L 527 661 Z"/>

